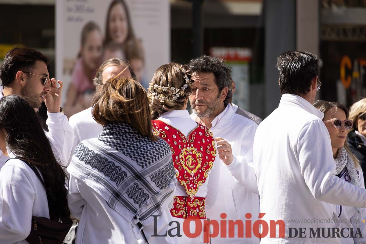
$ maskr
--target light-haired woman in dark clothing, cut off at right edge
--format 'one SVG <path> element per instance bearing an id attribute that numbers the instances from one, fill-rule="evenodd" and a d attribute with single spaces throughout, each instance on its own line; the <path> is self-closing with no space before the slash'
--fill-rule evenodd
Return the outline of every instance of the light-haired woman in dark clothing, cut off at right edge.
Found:
<path id="1" fill-rule="evenodd" d="M 348 133 L 347 142 L 352 153 L 360 161 L 362 171 L 366 172 L 366 98 L 351 106 L 350 120 L 353 121 L 353 127 Z"/>

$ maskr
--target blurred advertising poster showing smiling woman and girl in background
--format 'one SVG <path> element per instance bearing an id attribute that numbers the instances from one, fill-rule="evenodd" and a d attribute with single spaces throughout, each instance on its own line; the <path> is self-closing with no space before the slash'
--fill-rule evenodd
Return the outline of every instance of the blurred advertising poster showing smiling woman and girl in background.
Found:
<path id="1" fill-rule="evenodd" d="M 168 0 L 56 0 L 56 77 L 71 116 L 91 105 L 93 78 L 112 57 L 127 59 L 144 87 L 170 61 Z"/>

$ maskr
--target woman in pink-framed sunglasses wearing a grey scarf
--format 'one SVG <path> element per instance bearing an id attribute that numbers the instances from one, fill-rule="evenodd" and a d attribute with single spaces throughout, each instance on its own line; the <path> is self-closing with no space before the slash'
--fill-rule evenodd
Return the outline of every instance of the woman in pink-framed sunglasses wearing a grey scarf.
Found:
<path id="1" fill-rule="evenodd" d="M 358 159 L 351 153 L 347 145 L 347 133 L 352 129 L 353 121 L 348 119 L 348 109 L 337 102 L 315 101 L 314 107 L 324 113 L 324 124 L 328 129 L 332 143 L 333 158 L 336 164 L 337 176 L 360 188 L 365 188 L 363 174 Z M 344 229 L 343 236 L 350 236 L 350 228 L 360 228 L 363 237 L 342 238 L 342 244 L 359 244 L 366 242 L 366 224 L 361 222 L 366 218 L 366 209 L 337 206 L 337 216 L 333 220 L 338 222 L 339 228 Z M 338 219 L 337 219 L 338 217 Z M 348 232 L 348 233 L 347 233 Z"/>

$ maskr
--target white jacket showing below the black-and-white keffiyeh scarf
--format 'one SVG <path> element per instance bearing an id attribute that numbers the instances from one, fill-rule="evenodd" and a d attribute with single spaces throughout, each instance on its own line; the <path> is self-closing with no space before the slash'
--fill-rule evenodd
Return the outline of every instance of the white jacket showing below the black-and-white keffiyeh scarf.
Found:
<path id="1" fill-rule="evenodd" d="M 70 175 L 67 200 L 71 214 L 80 219 L 76 244 L 145 243 L 142 234 L 138 233 L 137 225 L 132 225 L 116 210 L 109 207 L 107 201 L 94 189 L 72 175 Z M 156 232 L 158 235 L 164 235 L 167 228 L 171 228 L 168 223 L 173 220 L 169 210 L 169 208 L 165 209 L 157 220 Z M 143 232 L 150 244 L 179 243 L 178 237 L 152 237 L 154 224 L 145 226 Z"/>

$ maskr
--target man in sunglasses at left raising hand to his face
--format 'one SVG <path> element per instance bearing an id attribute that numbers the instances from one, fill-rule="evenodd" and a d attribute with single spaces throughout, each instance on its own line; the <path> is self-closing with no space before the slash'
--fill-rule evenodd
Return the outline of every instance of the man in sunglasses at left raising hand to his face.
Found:
<path id="1" fill-rule="evenodd" d="M 61 165 L 68 164 L 71 151 L 70 140 L 73 132 L 67 117 L 61 113 L 61 91 L 63 83 L 50 79 L 47 69 L 49 59 L 42 53 L 30 48 L 14 48 L 5 54 L 4 64 L 0 68 L 0 99 L 7 95 L 20 95 L 38 110 L 45 102 L 47 107 L 48 132 L 53 151 Z M 59 87 L 57 87 L 57 84 Z M 7 158 L 0 156 L 0 167 Z"/>

